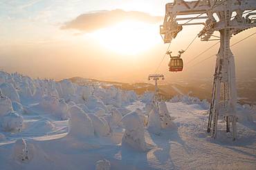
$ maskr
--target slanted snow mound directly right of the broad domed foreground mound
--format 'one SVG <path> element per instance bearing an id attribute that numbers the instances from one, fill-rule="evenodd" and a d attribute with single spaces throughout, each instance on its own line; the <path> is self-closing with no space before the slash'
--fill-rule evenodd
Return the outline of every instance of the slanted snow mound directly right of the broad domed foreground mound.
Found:
<path id="1" fill-rule="evenodd" d="M 99 118 L 95 114 L 88 114 L 93 122 L 93 127 L 96 136 L 108 136 L 110 134 L 110 127 L 104 118 Z"/>

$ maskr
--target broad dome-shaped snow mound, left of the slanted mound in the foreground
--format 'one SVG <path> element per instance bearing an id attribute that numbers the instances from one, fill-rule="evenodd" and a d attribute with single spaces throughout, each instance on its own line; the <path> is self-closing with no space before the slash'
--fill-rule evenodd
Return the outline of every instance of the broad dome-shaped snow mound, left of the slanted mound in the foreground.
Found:
<path id="1" fill-rule="evenodd" d="M 68 111 L 71 115 L 68 136 L 75 138 L 94 136 L 92 120 L 80 107 L 73 106 Z"/>

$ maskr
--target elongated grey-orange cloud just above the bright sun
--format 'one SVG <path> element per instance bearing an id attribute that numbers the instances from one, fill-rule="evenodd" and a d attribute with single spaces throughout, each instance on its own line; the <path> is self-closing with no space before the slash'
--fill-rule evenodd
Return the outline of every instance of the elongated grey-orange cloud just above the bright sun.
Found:
<path id="1" fill-rule="evenodd" d="M 75 29 L 83 32 L 93 32 L 101 28 L 106 28 L 122 21 L 132 20 L 145 23 L 158 23 L 162 21 L 162 17 L 154 17 L 145 12 L 110 10 L 96 11 L 81 14 L 76 19 L 64 23 L 62 30 Z"/>

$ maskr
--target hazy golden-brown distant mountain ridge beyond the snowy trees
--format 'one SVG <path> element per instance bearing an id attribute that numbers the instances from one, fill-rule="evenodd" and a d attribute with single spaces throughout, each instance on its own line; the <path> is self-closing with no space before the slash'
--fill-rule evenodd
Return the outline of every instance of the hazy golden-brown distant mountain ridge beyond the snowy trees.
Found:
<path id="1" fill-rule="evenodd" d="M 102 87 L 114 85 L 124 90 L 134 90 L 137 94 L 145 92 L 154 92 L 154 84 L 151 83 L 122 83 L 117 81 L 99 81 L 92 78 L 73 77 L 69 78 L 73 83 L 86 85 L 88 83 L 98 84 Z M 200 79 L 183 83 L 165 83 L 158 85 L 159 92 L 163 98 L 172 98 L 173 96 L 189 95 L 200 99 L 210 101 L 212 96 L 212 81 Z M 256 79 L 250 81 L 239 80 L 237 83 L 238 101 L 241 104 L 256 105 Z"/>

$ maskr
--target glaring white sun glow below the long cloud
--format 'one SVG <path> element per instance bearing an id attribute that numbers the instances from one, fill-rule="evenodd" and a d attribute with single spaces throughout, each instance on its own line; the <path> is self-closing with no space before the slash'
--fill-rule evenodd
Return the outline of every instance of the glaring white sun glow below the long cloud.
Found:
<path id="1" fill-rule="evenodd" d="M 158 27 L 138 21 L 124 21 L 91 33 L 102 45 L 118 54 L 135 55 L 159 43 Z"/>

